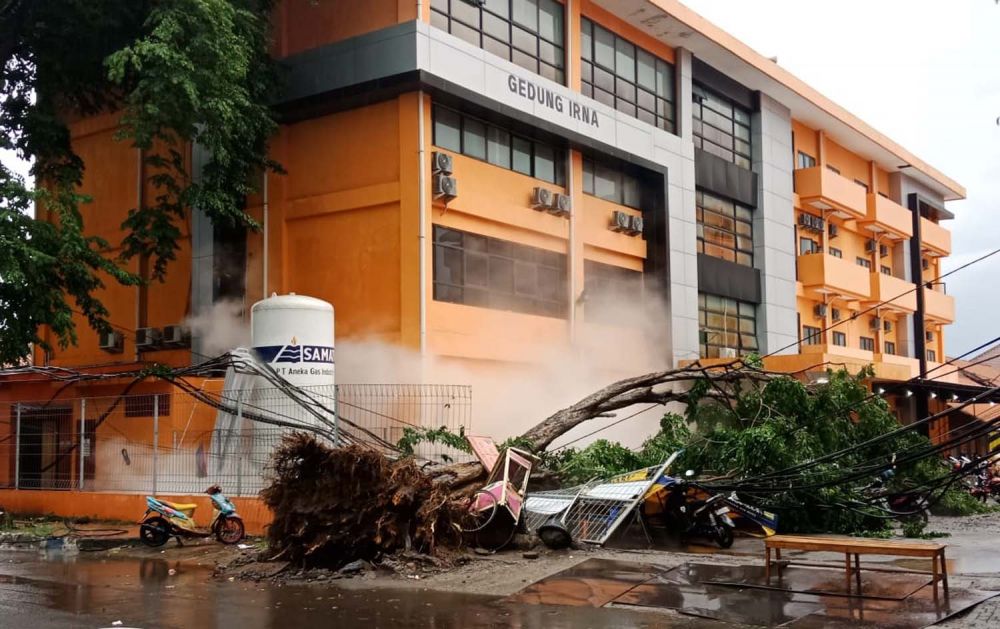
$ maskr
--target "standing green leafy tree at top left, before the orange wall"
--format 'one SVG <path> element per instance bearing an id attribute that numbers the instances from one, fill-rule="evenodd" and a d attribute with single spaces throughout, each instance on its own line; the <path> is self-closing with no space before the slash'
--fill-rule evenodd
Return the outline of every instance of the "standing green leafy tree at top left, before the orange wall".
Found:
<path id="1" fill-rule="evenodd" d="M 0 165 L 0 364 L 27 355 L 47 325 L 75 342 L 73 313 L 98 330 L 105 281 L 162 280 L 190 208 L 255 228 L 244 211 L 276 125 L 268 54 L 274 0 L 0 0 L 0 148 L 33 162 L 32 189 Z M 119 140 L 143 151 L 157 194 L 122 224 L 121 253 L 88 236 L 87 164 L 67 121 L 121 112 Z M 188 147 L 205 155 L 197 179 Z M 35 204 L 38 218 L 26 216 Z M 102 208 L 96 205 L 93 212 Z M 124 262 L 151 261 L 151 277 Z"/>

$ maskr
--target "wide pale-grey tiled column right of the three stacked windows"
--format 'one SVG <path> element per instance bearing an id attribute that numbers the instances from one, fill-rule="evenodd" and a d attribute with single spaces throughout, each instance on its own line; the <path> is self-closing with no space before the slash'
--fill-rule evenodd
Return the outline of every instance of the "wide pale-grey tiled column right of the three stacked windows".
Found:
<path id="1" fill-rule="evenodd" d="M 762 353 L 794 354 L 798 339 L 795 299 L 795 210 L 792 204 L 792 117 L 784 105 L 760 95 L 752 119 L 754 266 L 761 272 L 763 302 L 757 308 Z M 790 346 L 790 347 L 789 347 Z"/>

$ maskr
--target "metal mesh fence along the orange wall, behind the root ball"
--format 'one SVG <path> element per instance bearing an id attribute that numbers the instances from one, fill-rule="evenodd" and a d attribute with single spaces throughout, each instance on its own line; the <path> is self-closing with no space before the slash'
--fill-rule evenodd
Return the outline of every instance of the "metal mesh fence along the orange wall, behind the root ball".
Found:
<path id="1" fill-rule="evenodd" d="M 310 427 L 395 454 L 407 431 L 471 428 L 469 387 L 331 385 L 9 402 L 0 407 L 0 487 L 191 494 L 259 492 L 283 435 Z M 332 427 L 332 430 L 330 429 Z M 471 460 L 418 441 L 414 456 Z"/>

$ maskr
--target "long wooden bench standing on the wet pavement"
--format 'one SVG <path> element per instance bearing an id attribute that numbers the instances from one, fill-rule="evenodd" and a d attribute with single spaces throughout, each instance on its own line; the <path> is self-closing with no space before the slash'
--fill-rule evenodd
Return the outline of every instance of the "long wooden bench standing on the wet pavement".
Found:
<path id="1" fill-rule="evenodd" d="M 930 573 L 917 570 L 896 570 L 895 572 L 910 572 L 931 574 L 934 584 L 934 595 L 937 596 L 938 581 L 944 584 L 948 591 L 948 569 L 944 561 L 945 544 L 933 542 L 911 542 L 904 540 L 869 539 L 864 537 L 807 537 L 800 535 L 773 535 L 764 540 L 766 563 L 764 576 L 768 585 L 771 583 L 771 549 L 774 549 L 774 561 L 781 575 L 782 565 L 804 562 L 782 561 L 781 551 L 801 550 L 806 552 L 844 553 L 844 576 L 847 580 L 847 594 L 851 594 L 851 575 L 858 585 L 858 596 L 861 595 L 861 560 L 860 555 L 894 555 L 899 557 L 926 557 L 932 561 Z M 851 566 L 851 555 L 854 555 L 854 566 Z M 940 563 L 939 563 L 940 562 Z M 939 569 L 940 566 L 940 569 Z"/>

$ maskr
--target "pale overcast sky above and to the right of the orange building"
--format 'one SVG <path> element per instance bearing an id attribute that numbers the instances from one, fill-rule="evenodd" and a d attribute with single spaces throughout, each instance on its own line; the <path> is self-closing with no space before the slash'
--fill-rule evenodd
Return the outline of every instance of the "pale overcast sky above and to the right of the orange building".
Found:
<path id="1" fill-rule="evenodd" d="M 1000 247 L 995 0 L 682 0 L 965 186 L 945 271 Z M 944 280 L 957 356 L 1000 335 L 1000 254 Z"/>

